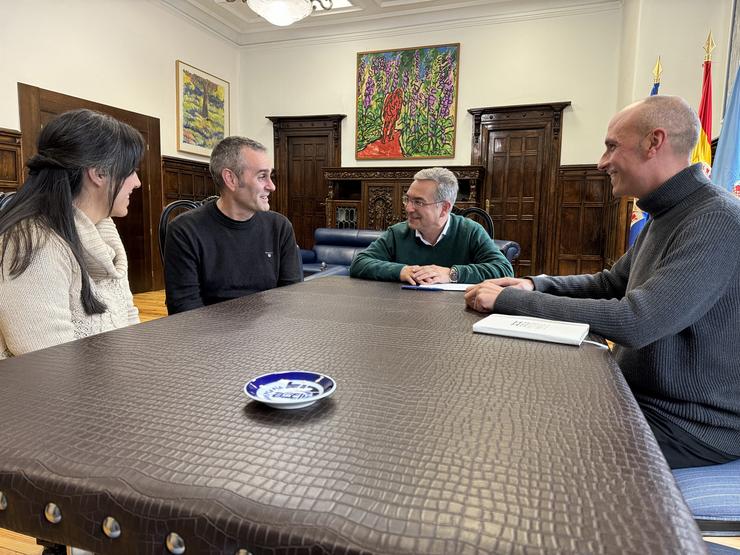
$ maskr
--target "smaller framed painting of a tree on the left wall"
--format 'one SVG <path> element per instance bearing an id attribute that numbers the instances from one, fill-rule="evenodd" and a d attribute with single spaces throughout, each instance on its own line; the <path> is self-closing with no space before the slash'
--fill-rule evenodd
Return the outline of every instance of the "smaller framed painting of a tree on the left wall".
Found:
<path id="1" fill-rule="evenodd" d="M 229 82 L 182 60 L 175 61 L 177 150 L 210 156 L 230 133 Z"/>

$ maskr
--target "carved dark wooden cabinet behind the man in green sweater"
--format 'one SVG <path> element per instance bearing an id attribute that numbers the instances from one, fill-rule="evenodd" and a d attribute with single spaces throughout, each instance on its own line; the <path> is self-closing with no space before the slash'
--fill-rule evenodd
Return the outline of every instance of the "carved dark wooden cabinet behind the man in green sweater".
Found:
<path id="1" fill-rule="evenodd" d="M 485 176 L 482 166 L 446 166 L 458 179 L 456 206 L 478 205 L 478 191 Z M 328 184 L 326 226 L 378 229 L 406 219 L 404 193 L 418 167 L 324 168 Z"/>

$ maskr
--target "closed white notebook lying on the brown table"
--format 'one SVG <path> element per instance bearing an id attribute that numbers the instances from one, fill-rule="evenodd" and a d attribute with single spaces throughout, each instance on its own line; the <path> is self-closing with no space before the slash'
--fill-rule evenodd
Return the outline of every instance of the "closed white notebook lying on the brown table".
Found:
<path id="1" fill-rule="evenodd" d="M 522 339 L 580 345 L 588 335 L 588 324 L 545 320 L 531 316 L 491 314 L 473 324 L 476 333 L 506 335 Z"/>

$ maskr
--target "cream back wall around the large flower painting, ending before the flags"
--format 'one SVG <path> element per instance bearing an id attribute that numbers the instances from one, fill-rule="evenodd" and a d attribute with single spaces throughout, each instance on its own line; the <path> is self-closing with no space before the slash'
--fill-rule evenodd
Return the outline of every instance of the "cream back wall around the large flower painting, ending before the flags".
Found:
<path id="1" fill-rule="evenodd" d="M 461 43 L 458 124 L 453 160 L 469 164 L 472 116 L 469 108 L 570 100 L 563 123 L 562 163 L 593 163 L 603 131 L 616 106 L 620 10 L 433 32 L 394 33 L 319 45 L 263 46 L 242 55 L 245 99 L 242 129 L 272 142 L 265 115 L 347 114 L 342 127 L 342 165 L 354 155 L 357 53 L 431 44 Z M 598 75 L 594 69 L 601 68 Z M 393 161 L 418 165 L 419 160 Z"/>

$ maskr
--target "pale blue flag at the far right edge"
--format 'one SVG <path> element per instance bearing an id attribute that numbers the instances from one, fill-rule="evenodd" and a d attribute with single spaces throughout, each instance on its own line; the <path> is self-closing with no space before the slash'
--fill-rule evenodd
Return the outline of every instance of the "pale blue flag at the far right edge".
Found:
<path id="1" fill-rule="evenodd" d="M 712 181 L 735 193 L 740 198 L 740 68 L 732 87 L 722 130 L 719 133 L 717 154 L 712 166 Z"/>

